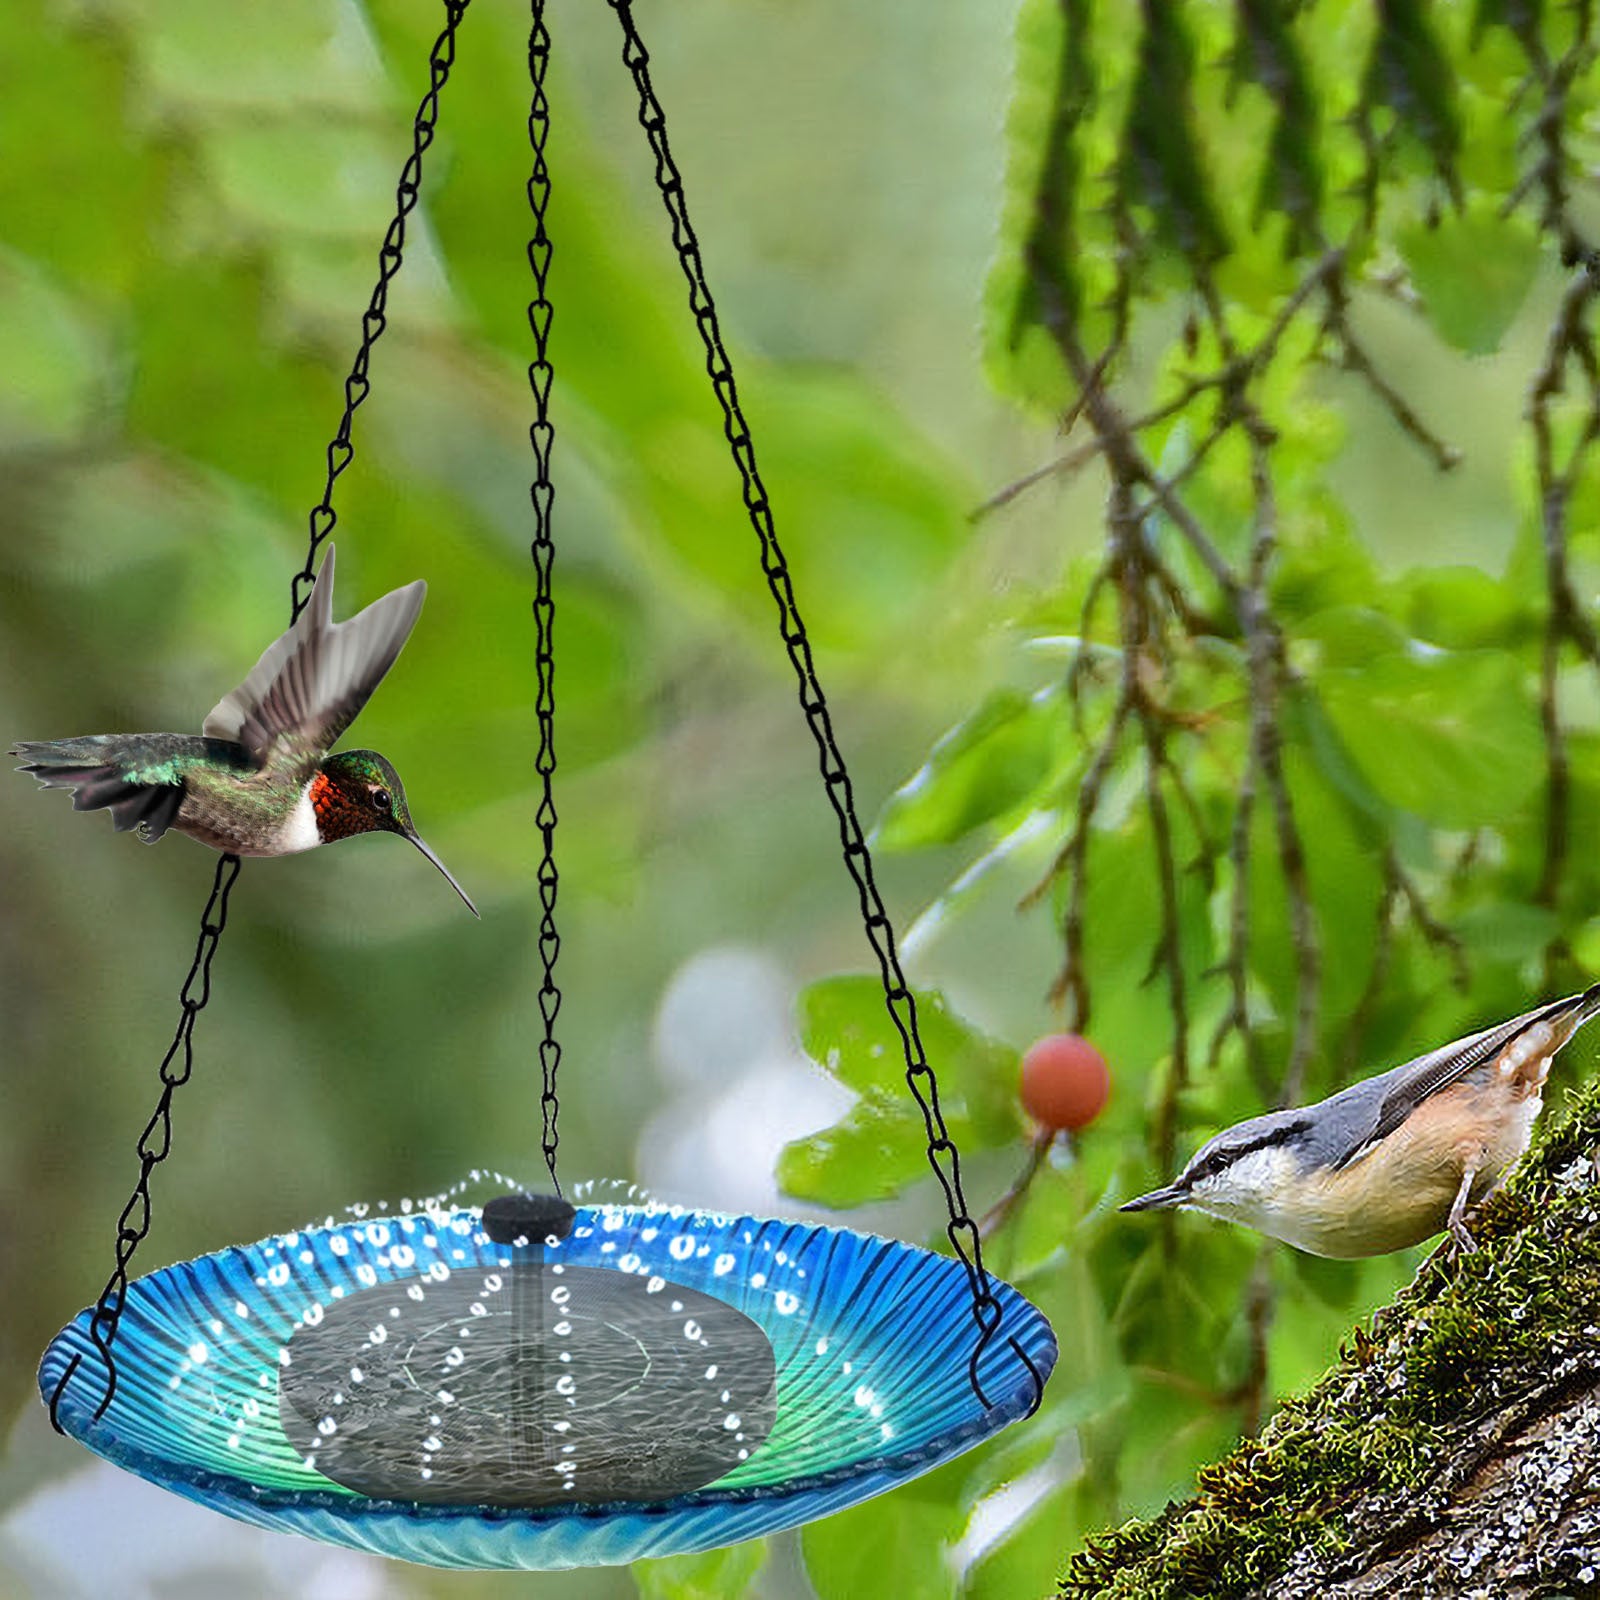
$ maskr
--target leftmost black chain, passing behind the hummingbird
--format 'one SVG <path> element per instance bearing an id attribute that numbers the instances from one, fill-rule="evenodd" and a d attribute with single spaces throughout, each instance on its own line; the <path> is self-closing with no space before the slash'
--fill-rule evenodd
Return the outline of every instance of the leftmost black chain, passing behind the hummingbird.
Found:
<path id="1" fill-rule="evenodd" d="M 306 550 L 306 566 L 294 576 L 290 586 L 290 622 L 293 624 L 310 600 L 314 582 L 314 566 L 317 550 L 333 533 L 338 515 L 333 510 L 333 486 L 339 475 L 350 464 L 355 454 L 350 445 L 350 421 L 355 408 L 366 398 L 371 384 L 366 368 L 371 360 L 373 346 L 387 326 L 386 307 L 389 301 L 389 282 L 400 270 L 402 251 L 405 248 L 405 219 L 416 206 L 418 190 L 422 182 L 422 152 L 434 142 L 434 125 L 438 120 L 438 91 L 450 77 L 450 69 L 456 61 L 456 29 L 470 0 L 445 0 L 446 22 L 443 32 L 434 42 L 429 54 L 429 88 L 418 106 L 411 139 L 411 154 L 400 171 L 400 184 L 395 190 L 395 216 L 384 235 L 382 250 L 378 254 L 378 286 L 362 317 L 362 344 L 355 352 L 350 376 L 344 381 L 344 416 L 339 419 L 339 430 L 328 445 L 328 478 L 322 491 L 322 501 L 310 514 L 310 542 Z M 224 854 L 216 864 L 216 875 L 211 880 L 211 894 L 200 915 L 200 938 L 195 944 L 195 957 L 189 966 L 189 976 L 179 990 L 182 1006 L 178 1018 L 178 1032 L 173 1035 L 166 1054 L 162 1058 L 162 1096 L 155 1102 L 150 1120 L 139 1134 L 139 1179 L 134 1184 L 128 1203 L 117 1219 L 117 1264 L 106 1286 L 94 1302 L 94 1314 L 90 1318 L 90 1339 L 106 1366 L 106 1394 L 94 1408 L 96 1421 L 106 1414 L 117 1394 L 117 1362 L 112 1355 L 112 1344 L 117 1338 L 117 1326 L 122 1322 L 122 1309 L 128 1294 L 128 1266 L 133 1253 L 149 1237 L 150 1232 L 150 1176 L 155 1168 L 166 1160 L 173 1146 L 173 1094 L 189 1082 L 194 1072 L 194 1032 L 195 1019 L 211 998 L 211 960 L 216 955 L 218 941 L 227 925 L 227 899 L 238 878 L 240 859 Z M 61 1398 L 67 1384 L 82 1363 L 80 1355 L 74 1355 L 66 1371 L 56 1381 L 50 1395 L 50 1421 L 56 1432 L 64 1432 L 59 1418 Z"/>

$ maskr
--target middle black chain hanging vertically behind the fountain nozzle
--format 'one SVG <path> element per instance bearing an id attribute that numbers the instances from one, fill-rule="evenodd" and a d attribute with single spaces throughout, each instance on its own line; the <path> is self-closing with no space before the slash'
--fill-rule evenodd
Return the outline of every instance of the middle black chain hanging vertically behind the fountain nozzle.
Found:
<path id="1" fill-rule="evenodd" d="M 536 578 L 533 619 L 538 627 L 534 662 L 539 678 L 539 755 L 534 766 L 542 792 L 539 797 L 539 837 L 544 851 L 539 856 L 539 962 L 544 979 L 539 984 L 539 1014 L 544 1018 L 544 1038 L 539 1040 L 539 1067 L 544 1086 L 539 1093 L 539 1109 L 544 1114 L 544 1165 L 550 1170 L 555 1192 L 562 1181 L 555 1176 L 555 1146 L 558 1142 L 555 1120 L 560 1102 L 555 1098 L 555 1075 L 562 1064 L 562 1046 L 555 1038 L 555 1014 L 562 1010 L 562 990 L 555 986 L 555 958 L 562 941 L 555 931 L 555 893 L 560 877 L 555 870 L 555 600 L 550 594 L 550 570 L 555 562 L 555 544 L 550 539 L 550 506 L 555 488 L 550 483 L 550 446 L 555 429 L 550 426 L 550 382 L 555 368 L 549 360 L 550 318 L 555 310 L 546 293 L 550 272 L 550 235 L 544 226 L 544 213 L 550 203 L 550 170 L 544 160 L 544 144 L 550 136 L 550 102 L 544 93 L 544 77 L 550 66 L 550 34 L 544 26 L 544 0 L 533 0 L 533 29 L 528 34 L 528 77 L 533 82 L 533 99 L 528 109 L 528 144 L 533 147 L 533 171 L 528 176 L 528 208 L 533 211 L 533 238 L 528 240 L 528 266 L 533 269 L 533 301 L 528 304 L 528 326 L 533 330 L 533 362 L 528 365 L 528 387 L 533 390 L 534 421 L 528 429 L 533 443 L 534 477 L 530 488 L 533 498 L 533 570 Z"/>

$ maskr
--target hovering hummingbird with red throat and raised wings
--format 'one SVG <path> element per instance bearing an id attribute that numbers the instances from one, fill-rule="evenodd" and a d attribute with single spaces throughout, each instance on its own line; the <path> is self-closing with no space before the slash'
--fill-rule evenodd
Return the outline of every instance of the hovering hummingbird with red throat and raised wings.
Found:
<path id="1" fill-rule="evenodd" d="M 400 774 L 376 750 L 330 755 L 395 664 L 427 584 L 418 579 L 333 621 L 333 546 L 310 602 L 200 734 L 128 733 L 11 747 L 77 811 L 109 808 L 118 832 L 154 845 L 170 827 L 235 856 L 288 856 L 352 834 L 398 834 L 478 909 L 411 822 Z"/>

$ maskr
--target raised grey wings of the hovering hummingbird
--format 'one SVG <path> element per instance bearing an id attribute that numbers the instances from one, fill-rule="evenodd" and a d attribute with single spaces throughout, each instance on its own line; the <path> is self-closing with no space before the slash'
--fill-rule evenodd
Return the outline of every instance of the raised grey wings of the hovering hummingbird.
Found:
<path id="1" fill-rule="evenodd" d="M 218 701 L 203 731 L 242 744 L 251 758 L 315 765 L 355 720 L 416 626 L 427 584 L 418 579 L 333 621 L 333 546 L 310 603 L 274 640 L 250 677 Z"/>

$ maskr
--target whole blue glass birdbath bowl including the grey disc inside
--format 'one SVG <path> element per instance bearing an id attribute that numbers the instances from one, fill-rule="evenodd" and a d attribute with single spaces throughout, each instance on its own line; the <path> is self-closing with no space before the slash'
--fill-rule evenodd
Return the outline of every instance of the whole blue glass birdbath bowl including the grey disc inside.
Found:
<path id="1" fill-rule="evenodd" d="M 638 1206 L 507 1246 L 475 1210 L 416 1211 L 138 1278 L 98 1419 L 90 1312 L 38 1379 L 48 1398 L 80 1358 L 66 1432 L 264 1528 L 434 1566 L 619 1565 L 826 1517 L 1027 1414 L 1056 1341 L 992 1288 L 984 1406 L 946 1256 Z"/>

